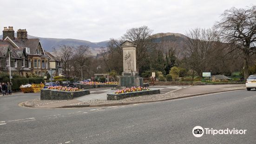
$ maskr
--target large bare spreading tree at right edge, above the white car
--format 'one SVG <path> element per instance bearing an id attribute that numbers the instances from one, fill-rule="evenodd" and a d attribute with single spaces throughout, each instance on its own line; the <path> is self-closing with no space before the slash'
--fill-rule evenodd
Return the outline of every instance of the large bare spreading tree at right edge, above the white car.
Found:
<path id="1" fill-rule="evenodd" d="M 223 42 L 243 52 L 244 79 L 249 77 L 249 59 L 256 52 L 256 6 L 224 11 L 216 27 Z"/>

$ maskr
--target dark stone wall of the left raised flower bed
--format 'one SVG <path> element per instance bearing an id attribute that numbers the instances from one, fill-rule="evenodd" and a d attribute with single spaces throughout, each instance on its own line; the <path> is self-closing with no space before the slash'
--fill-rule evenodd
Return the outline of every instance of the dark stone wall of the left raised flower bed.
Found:
<path id="1" fill-rule="evenodd" d="M 66 92 L 58 90 L 41 89 L 40 99 L 41 100 L 65 100 L 74 99 L 84 95 L 90 94 L 89 90 Z"/>

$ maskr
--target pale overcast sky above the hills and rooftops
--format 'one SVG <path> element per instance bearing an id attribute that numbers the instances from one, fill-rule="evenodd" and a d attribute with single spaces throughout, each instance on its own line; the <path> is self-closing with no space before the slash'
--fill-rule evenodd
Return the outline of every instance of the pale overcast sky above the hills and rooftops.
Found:
<path id="1" fill-rule="evenodd" d="M 1 0 L 0 28 L 92 42 L 119 38 L 143 25 L 153 33 L 184 34 L 213 26 L 225 9 L 252 4 L 255 0 Z"/>

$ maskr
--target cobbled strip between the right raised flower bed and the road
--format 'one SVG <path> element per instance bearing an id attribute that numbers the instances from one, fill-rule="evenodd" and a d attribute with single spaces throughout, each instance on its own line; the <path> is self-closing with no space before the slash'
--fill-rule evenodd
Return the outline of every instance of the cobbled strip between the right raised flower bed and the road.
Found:
<path id="1" fill-rule="evenodd" d="M 189 94 L 183 93 L 168 93 L 168 94 L 153 94 L 153 95 L 145 95 L 145 96 L 138 96 L 138 97 L 131 97 L 131 98 L 124 98 L 120 100 L 90 100 L 83 103 L 78 103 L 74 105 L 95 105 L 95 104 L 111 104 L 111 103 L 124 103 L 124 102 L 135 102 L 135 101 L 148 101 L 148 100 L 160 100 L 166 98 L 176 98 L 182 97 Z"/>

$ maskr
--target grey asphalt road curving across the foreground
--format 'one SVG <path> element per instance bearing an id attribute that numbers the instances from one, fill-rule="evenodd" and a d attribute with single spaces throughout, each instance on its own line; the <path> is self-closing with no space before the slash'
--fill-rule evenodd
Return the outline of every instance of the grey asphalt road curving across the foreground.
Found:
<path id="1" fill-rule="evenodd" d="M 256 91 L 100 108 L 18 106 L 33 98 L 38 94 L 0 97 L 0 144 L 256 144 Z M 247 131 L 194 137 L 197 125 Z"/>

